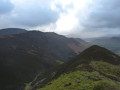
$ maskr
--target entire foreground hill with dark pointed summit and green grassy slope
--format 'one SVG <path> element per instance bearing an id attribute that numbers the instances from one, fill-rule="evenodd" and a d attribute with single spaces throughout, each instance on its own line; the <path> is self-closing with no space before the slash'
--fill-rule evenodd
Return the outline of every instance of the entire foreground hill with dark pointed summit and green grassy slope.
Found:
<path id="1" fill-rule="evenodd" d="M 92 46 L 39 75 L 25 90 L 120 90 L 120 57 Z"/>

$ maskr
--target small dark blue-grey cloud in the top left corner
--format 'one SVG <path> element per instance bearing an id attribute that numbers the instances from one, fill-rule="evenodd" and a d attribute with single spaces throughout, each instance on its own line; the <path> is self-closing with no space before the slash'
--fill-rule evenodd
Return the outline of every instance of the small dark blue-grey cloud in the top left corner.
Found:
<path id="1" fill-rule="evenodd" d="M 10 12 L 14 8 L 14 5 L 10 0 L 0 0 L 0 14 Z"/>

